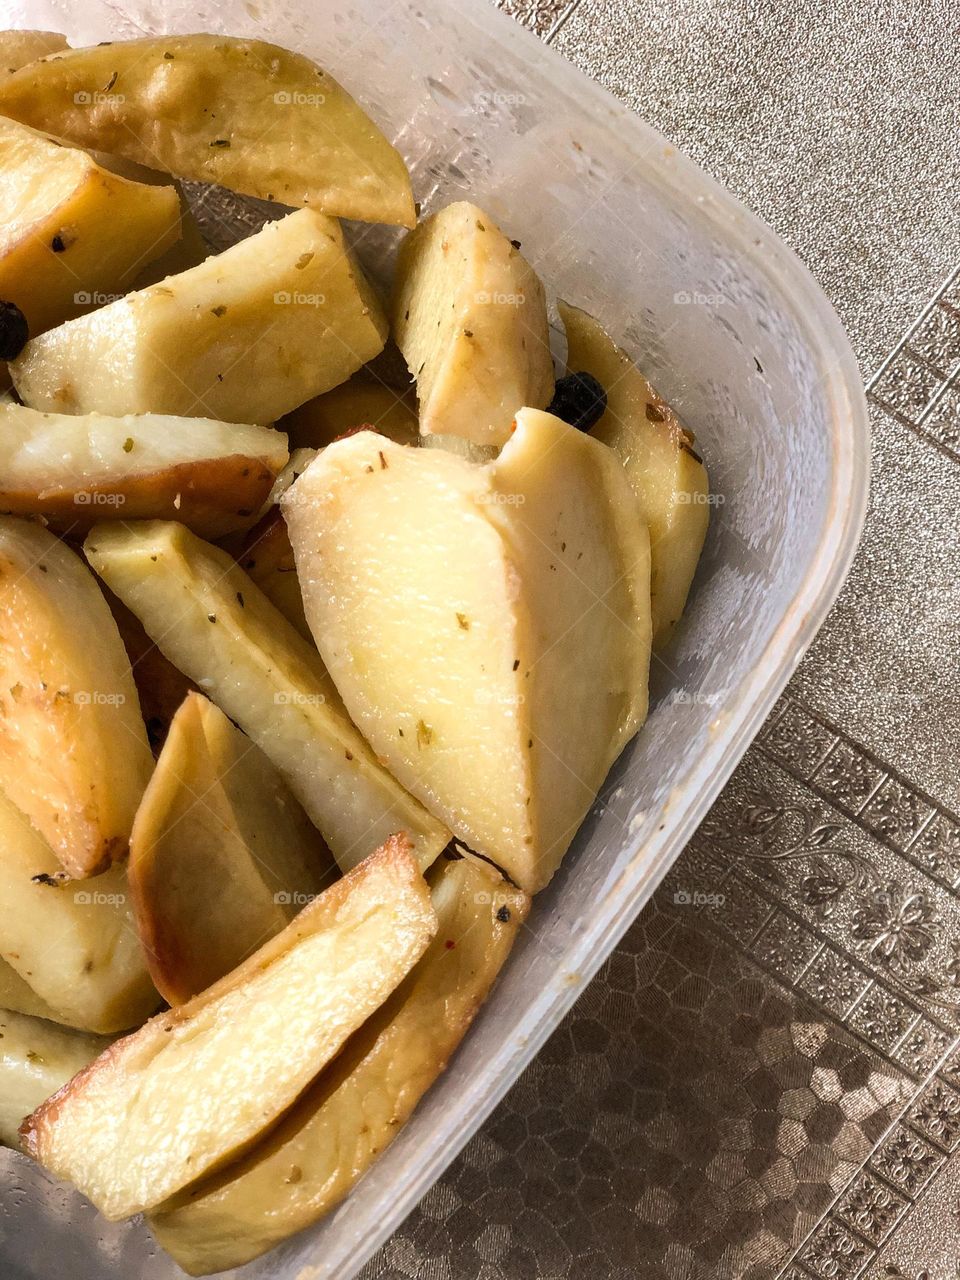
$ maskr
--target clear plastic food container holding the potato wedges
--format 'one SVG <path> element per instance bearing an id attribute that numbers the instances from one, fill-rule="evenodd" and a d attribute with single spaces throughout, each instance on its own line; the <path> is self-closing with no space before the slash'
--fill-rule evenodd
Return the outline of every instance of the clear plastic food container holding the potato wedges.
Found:
<path id="1" fill-rule="evenodd" d="M 74 44 L 212 31 L 316 58 L 397 141 L 430 210 L 468 193 L 552 298 L 596 314 L 695 430 L 717 507 L 649 722 L 492 1000 L 340 1210 L 243 1276 L 347 1280 L 557 1027 L 707 813 L 837 594 L 867 499 L 868 425 L 836 315 L 777 237 L 659 134 L 481 0 L 24 0 L 4 24 Z M 641 72 L 639 72 L 641 73 Z M 361 230 L 388 268 L 392 232 Z M 643 1066 L 637 1066 L 643 1070 Z M 104 1222 L 0 1157 L 5 1280 L 169 1280 L 140 1222 Z"/>

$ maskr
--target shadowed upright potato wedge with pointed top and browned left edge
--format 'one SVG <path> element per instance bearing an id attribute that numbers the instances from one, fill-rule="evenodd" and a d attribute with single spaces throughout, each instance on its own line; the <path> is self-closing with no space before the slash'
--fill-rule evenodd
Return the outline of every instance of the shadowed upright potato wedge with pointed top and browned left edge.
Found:
<path id="1" fill-rule="evenodd" d="M 182 1005 L 212 986 L 338 874 L 264 753 L 188 694 L 131 837 L 137 928 L 164 1000 Z"/>

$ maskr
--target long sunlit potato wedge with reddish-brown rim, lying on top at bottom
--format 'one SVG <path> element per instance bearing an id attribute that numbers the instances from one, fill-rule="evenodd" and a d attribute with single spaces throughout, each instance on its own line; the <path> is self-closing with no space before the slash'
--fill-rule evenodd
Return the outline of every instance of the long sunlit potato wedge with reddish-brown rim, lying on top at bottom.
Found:
<path id="1" fill-rule="evenodd" d="M 152 1208 L 269 1128 L 435 931 L 392 838 L 233 973 L 113 1044 L 24 1121 L 24 1149 L 108 1219 Z"/>

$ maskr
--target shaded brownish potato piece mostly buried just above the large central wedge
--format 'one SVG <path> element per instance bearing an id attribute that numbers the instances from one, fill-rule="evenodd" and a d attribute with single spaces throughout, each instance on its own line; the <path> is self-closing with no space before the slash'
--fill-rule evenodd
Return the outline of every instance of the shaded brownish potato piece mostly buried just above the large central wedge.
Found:
<path id="1" fill-rule="evenodd" d="M 278 424 L 291 448 L 323 449 L 357 426 L 372 428 L 397 444 L 419 444 L 416 398 L 397 392 L 366 369 L 294 408 Z"/>

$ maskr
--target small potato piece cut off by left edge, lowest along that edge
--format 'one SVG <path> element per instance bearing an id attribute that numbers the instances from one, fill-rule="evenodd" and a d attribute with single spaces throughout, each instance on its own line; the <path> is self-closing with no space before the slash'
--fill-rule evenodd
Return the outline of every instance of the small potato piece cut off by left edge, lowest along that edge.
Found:
<path id="1" fill-rule="evenodd" d="M 19 1147 L 24 1116 L 106 1048 L 99 1036 L 0 1009 L 0 1143 Z"/>

